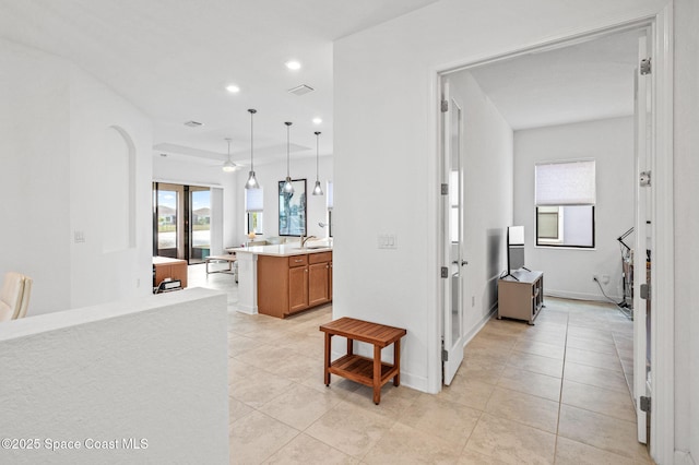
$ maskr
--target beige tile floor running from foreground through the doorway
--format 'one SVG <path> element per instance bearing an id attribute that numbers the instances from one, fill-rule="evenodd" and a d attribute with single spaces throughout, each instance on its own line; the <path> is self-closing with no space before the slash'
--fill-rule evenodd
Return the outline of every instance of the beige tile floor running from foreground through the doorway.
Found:
<path id="1" fill-rule="evenodd" d="M 277 320 L 235 311 L 228 293 L 233 464 L 647 464 L 627 384 L 632 323 L 612 306 L 549 298 L 536 325 L 490 320 L 438 395 L 322 382 L 331 306 Z M 262 336 L 262 337 L 260 337 Z"/>

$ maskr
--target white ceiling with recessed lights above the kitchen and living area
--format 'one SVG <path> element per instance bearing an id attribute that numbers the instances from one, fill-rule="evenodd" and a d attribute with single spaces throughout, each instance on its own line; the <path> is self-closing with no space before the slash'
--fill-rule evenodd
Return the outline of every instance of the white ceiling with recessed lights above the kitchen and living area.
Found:
<path id="1" fill-rule="evenodd" d="M 332 153 L 333 40 L 436 1 L 0 0 L 0 37 L 67 58 L 137 105 L 154 121 L 155 156 L 223 163 L 230 138 L 234 162 L 249 165 L 256 108 L 263 164 L 285 158 L 285 121 L 292 153 L 315 156 L 315 131 Z M 287 92 L 300 84 L 315 92 Z"/>

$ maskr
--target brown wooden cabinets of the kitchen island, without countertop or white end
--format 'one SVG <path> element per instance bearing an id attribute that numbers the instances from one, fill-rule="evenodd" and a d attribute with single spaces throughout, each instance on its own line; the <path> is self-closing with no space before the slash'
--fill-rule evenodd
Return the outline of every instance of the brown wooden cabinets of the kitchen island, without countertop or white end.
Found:
<path id="1" fill-rule="evenodd" d="M 258 312 L 285 318 L 331 297 L 332 252 L 258 255 Z"/>

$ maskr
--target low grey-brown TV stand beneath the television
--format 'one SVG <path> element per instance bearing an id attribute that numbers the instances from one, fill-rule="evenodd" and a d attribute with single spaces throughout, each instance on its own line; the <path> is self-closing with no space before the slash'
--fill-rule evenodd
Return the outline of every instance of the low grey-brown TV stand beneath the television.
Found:
<path id="1" fill-rule="evenodd" d="M 498 320 L 514 318 L 534 324 L 544 307 L 544 273 L 517 270 L 498 281 Z"/>

